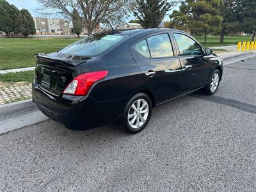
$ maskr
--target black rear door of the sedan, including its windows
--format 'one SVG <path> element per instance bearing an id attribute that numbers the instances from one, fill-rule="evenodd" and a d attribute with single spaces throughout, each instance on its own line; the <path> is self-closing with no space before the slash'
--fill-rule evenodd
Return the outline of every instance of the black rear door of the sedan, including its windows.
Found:
<path id="1" fill-rule="evenodd" d="M 131 52 L 145 79 L 145 89 L 154 93 L 156 104 L 180 93 L 182 67 L 173 53 L 170 33 L 155 33 L 137 40 Z"/>

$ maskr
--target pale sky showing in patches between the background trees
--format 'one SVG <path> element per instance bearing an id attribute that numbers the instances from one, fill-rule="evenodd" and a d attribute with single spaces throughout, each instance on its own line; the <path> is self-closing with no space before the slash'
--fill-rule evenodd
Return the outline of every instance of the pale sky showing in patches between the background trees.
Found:
<path id="1" fill-rule="evenodd" d="M 36 0 L 6 0 L 6 1 L 10 4 L 14 4 L 19 10 L 21 10 L 22 8 L 25 8 L 26 10 L 29 11 L 29 13 L 33 17 L 40 17 L 40 13 L 36 12 L 36 8 L 40 8 L 40 4 Z M 177 10 L 177 9 L 179 9 L 179 6 L 176 6 L 174 8 L 174 10 Z M 172 11 L 168 12 L 168 15 L 172 13 Z M 164 17 L 164 20 L 170 20 L 168 15 Z M 129 18 L 134 19 L 132 15 Z"/>

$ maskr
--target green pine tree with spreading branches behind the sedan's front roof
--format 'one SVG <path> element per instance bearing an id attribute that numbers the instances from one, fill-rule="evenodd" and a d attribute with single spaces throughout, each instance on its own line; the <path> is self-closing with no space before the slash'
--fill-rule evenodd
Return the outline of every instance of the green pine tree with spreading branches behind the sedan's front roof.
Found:
<path id="1" fill-rule="evenodd" d="M 221 30 L 223 18 L 220 15 L 222 0 L 186 0 L 182 1 L 179 12 L 170 15 L 176 24 L 188 26 L 192 34 L 205 36 Z"/>

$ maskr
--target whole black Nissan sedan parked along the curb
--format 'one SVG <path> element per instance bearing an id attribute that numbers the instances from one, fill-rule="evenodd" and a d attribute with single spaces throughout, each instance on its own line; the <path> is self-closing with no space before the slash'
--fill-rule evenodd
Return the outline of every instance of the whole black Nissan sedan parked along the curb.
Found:
<path id="1" fill-rule="evenodd" d="M 140 132 L 153 106 L 212 95 L 223 74 L 221 58 L 176 29 L 103 31 L 35 59 L 33 102 L 74 130 L 118 121 Z"/>

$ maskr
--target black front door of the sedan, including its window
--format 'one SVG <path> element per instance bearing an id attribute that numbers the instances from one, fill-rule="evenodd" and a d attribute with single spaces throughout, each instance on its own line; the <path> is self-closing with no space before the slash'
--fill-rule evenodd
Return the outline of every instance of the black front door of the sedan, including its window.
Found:
<path id="1" fill-rule="evenodd" d="M 204 56 L 204 49 L 188 34 L 172 34 L 183 69 L 182 91 L 189 92 L 204 86 L 209 79 L 214 61 Z"/>

